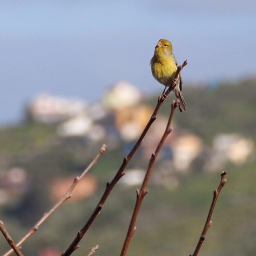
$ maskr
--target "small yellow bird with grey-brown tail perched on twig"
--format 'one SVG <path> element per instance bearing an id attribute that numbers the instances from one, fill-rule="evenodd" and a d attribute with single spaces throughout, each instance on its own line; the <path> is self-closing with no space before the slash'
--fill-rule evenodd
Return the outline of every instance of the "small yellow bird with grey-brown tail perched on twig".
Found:
<path id="1" fill-rule="evenodd" d="M 150 60 L 151 72 L 154 78 L 162 83 L 165 88 L 162 93 L 163 99 L 166 99 L 164 94 L 166 87 L 170 86 L 178 67 L 177 60 L 173 55 L 173 45 L 166 39 L 160 39 L 155 47 L 153 58 Z M 177 99 L 180 100 L 179 109 L 180 112 L 186 111 L 186 103 L 181 93 L 182 90 L 182 78 L 181 74 L 176 79 L 176 85 L 173 88 L 173 92 Z"/>

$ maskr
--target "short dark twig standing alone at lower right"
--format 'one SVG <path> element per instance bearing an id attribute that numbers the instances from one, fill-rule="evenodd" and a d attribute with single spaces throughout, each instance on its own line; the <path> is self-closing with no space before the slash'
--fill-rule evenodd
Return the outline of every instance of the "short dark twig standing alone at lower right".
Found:
<path id="1" fill-rule="evenodd" d="M 207 216 L 207 219 L 206 219 L 206 222 L 205 222 L 205 225 L 204 225 L 204 229 L 202 231 L 202 234 L 199 238 L 199 241 L 198 241 L 198 244 L 197 246 L 195 247 L 195 251 L 194 253 L 192 254 L 192 256 L 197 256 L 198 255 L 198 252 L 200 251 L 200 248 L 202 246 L 202 243 L 204 242 L 204 239 L 205 239 L 205 235 L 206 235 L 206 232 L 207 230 L 209 229 L 209 227 L 211 227 L 211 216 L 213 214 L 213 210 L 214 210 L 214 207 L 215 207 L 215 204 L 216 204 L 216 201 L 218 199 L 218 195 L 220 194 L 220 191 L 221 189 L 223 188 L 223 186 L 226 184 L 227 180 L 225 179 L 225 175 L 227 174 L 227 171 L 223 171 L 221 173 L 221 180 L 220 180 L 220 184 L 218 186 L 218 189 L 215 189 L 214 190 L 214 193 L 213 193 L 213 200 L 211 202 L 211 207 L 210 207 L 210 210 L 209 210 L 209 213 L 208 213 L 208 216 Z M 191 256 L 191 254 L 190 254 Z"/>

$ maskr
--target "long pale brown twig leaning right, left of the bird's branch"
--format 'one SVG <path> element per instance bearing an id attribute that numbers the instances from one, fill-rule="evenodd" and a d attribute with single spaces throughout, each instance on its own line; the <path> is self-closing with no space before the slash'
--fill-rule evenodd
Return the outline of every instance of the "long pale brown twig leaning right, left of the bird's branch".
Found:
<path id="1" fill-rule="evenodd" d="M 63 204 L 66 200 L 68 200 L 69 198 L 71 198 L 71 193 L 74 189 L 74 187 L 76 186 L 76 184 L 79 182 L 79 180 L 81 180 L 81 178 L 90 170 L 90 168 L 92 168 L 92 166 L 94 164 L 97 163 L 98 158 L 105 152 L 106 150 L 106 145 L 103 144 L 101 146 L 101 149 L 99 151 L 99 153 L 96 155 L 96 157 L 94 157 L 94 159 L 92 160 L 92 162 L 89 164 L 89 166 L 83 171 L 83 173 L 79 176 L 79 177 L 75 177 L 74 181 L 72 183 L 72 185 L 70 186 L 70 188 L 68 189 L 67 193 L 63 196 L 63 198 L 61 198 L 61 200 L 59 200 L 54 207 L 52 207 L 52 209 L 50 209 L 50 211 L 48 211 L 47 213 L 45 213 L 43 215 L 42 218 L 40 218 L 40 220 L 36 223 L 36 225 L 34 225 L 34 227 L 17 243 L 17 246 L 19 247 L 20 245 L 22 245 L 30 236 L 32 236 L 37 230 L 38 228 L 43 224 L 43 222 L 45 222 L 45 220 L 47 220 L 47 218 L 49 218 L 49 216 L 52 215 L 52 213 L 54 213 L 54 211 L 56 211 L 58 209 L 58 207 L 61 206 L 61 204 Z M 9 250 L 8 252 L 6 252 L 3 256 L 9 256 L 13 253 L 13 250 Z"/>

